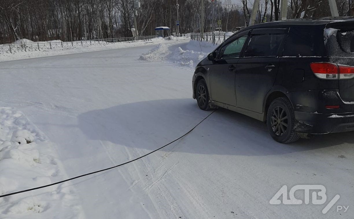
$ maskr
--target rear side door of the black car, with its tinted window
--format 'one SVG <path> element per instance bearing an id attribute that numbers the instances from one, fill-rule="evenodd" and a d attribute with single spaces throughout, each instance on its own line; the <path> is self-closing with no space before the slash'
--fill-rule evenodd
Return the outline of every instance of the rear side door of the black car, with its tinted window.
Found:
<path id="1" fill-rule="evenodd" d="M 264 97 L 275 82 L 287 31 L 287 28 L 252 30 L 249 43 L 237 63 L 237 107 L 263 113 Z"/>

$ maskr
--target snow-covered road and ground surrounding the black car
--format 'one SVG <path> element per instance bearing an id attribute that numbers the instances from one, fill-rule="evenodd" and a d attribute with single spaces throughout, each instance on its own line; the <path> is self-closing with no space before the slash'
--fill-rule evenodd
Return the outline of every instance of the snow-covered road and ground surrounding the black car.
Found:
<path id="1" fill-rule="evenodd" d="M 191 86 L 213 46 L 163 42 L 0 62 L 0 194 L 127 162 L 209 115 Z M 353 146 L 353 132 L 279 144 L 264 123 L 219 109 L 136 162 L 0 198 L 0 218 L 353 218 Z M 308 184 L 340 199 L 326 214 L 269 204 Z"/>

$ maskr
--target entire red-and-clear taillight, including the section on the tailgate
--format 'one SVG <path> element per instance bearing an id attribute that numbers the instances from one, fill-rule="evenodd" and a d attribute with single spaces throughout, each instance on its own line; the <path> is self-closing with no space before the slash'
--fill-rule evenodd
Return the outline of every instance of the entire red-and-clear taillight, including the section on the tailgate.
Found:
<path id="1" fill-rule="evenodd" d="M 310 64 L 313 73 L 320 79 L 352 79 L 354 67 L 329 62 L 313 62 Z"/>

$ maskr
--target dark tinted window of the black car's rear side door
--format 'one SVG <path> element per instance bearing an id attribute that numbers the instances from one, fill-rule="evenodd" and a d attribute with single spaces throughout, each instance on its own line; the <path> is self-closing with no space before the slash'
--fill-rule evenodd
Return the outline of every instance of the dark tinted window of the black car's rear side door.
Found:
<path id="1" fill-rule="evenodd" d="M 252 35 L 245 57 L 276 56 L 285 34 Z"/>

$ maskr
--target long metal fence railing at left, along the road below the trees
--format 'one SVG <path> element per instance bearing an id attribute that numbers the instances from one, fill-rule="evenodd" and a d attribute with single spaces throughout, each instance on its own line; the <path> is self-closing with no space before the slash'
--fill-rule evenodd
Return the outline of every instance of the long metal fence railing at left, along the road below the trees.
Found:
<path id="1" fill-rule="evenodd" d="M 110 39 L 95 39 L 95 40 L 79 40 L 79 41 L 58 41 L 58 42 L 38 42 L 27 44 L 3 44 L 0 46 L 0 54 L 27 52 L 27 51 L 42 51 L 48 49 L 55 49 L 58 47 L 70 47 L 70 46 L 85 46 L 96 44 L 114 44 L 123 42 L 138 42 L 149 41 L 158 36 L 137 36 L 137 37 L 125 37 L 125 38 L 110 38 Z"/>

